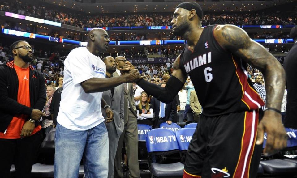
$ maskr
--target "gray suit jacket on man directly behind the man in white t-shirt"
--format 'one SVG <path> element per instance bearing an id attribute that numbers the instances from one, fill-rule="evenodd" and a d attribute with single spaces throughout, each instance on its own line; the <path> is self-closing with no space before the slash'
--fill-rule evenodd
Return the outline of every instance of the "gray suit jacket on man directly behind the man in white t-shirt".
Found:
<path id="1" fill-rule="evenodd" d="M 114 96 L 111 95 L 111 91 L 104 91 L 102 98 L 106 101 L 106 104 L 110 105 L 110 109 L 114 112 L 114 125 L 117 130 L 118 136 L 123 133 L 124 130 L 124 92 L 123 84 L 114 88 Z M 102 115 L 106 116 L 103 108 L 101 108 Z M 107 125 L 111 124 L 108 123 Z M 107 126 L 106 125 L 106 126 Z"/>

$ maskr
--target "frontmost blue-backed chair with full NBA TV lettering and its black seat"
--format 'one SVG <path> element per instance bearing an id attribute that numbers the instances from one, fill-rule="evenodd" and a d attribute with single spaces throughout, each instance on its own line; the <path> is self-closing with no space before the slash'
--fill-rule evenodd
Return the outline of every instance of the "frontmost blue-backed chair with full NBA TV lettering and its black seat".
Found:
<path id="1" fill-rule="evenodd" d="M 149 154 L 171 155 L 179 153 L 179 145 L 175 133 L 170 129 L 152 129 L 146 137 L 146 147 Z M 182 178 L 184 164 L 151 163 L 151 178 Z"/>

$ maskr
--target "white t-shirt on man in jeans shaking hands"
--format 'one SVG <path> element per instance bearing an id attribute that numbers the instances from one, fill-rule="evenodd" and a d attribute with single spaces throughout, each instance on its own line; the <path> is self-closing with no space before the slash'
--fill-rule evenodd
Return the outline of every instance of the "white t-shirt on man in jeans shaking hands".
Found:
<path id="1" fill-rule="evenodd" d="M 88 130 L 104 121 L 102 92 L 85 93 L 80 83 L 90 78 L 105 78 L 104 62 L 86 47 L 73 49 L 65 59 L 63 92 L 57 121 L 71 130 Z"/>

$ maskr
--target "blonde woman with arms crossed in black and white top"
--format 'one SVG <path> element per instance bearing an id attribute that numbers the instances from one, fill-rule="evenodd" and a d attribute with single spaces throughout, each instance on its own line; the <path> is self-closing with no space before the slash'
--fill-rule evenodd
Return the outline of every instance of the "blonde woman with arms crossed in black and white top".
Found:
<path id="1" fill-rule="evenodd" d="M 140 102 L 136 105 L 137 110 L 137 124 L 153 125 L 153 108 L 149 104 L 149 96 L 146 92 L 140 95 Z"/>

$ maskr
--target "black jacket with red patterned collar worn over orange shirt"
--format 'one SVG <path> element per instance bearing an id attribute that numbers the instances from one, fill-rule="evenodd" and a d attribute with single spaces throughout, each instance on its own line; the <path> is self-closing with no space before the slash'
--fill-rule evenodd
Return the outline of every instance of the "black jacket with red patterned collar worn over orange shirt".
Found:
<path id="1" fill-rule="evenodd" d="M 16 114 L 31 115 L 32 109 L 42 111 L 46 102 L 45 79 L 30 66 L 29 90 L 31 107 L 17 102 L 19 80 L 13 61 L 0 65 L 0 132 L 4 133 Z M 29 119 L 29 118 L 28 118 Z"/>

